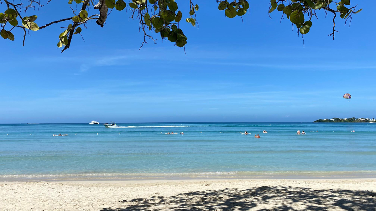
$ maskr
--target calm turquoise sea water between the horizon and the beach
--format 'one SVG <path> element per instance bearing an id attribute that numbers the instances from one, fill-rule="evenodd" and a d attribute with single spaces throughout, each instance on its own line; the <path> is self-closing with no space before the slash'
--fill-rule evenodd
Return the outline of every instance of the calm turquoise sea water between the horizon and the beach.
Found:
<path id="1" fill-rule="evenodd" d="M 0 124 L 0 176 L 376 171 L 376 124 L 118 125 Z M 296 135 L 298 129 L 307 134 Z M 251 134 L 239 133 L 245 130 Z M 165 135 L 172 131 L 178 134 Z M 59 133 L 69 136 L 52 136 Z"/>

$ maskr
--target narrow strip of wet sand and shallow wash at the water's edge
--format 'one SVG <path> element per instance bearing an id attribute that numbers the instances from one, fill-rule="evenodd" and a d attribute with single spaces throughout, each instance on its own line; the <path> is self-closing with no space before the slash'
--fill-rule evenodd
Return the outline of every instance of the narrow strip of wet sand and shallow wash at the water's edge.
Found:
<path id="1" fill-rule="evenodd" d="M 373 179 L 376 171 L 252 171 L 202 173 L 78 173 L 0 175 L 0 182 L 64 182 L 64 181 L 180 181 L 233 179 Z"/>

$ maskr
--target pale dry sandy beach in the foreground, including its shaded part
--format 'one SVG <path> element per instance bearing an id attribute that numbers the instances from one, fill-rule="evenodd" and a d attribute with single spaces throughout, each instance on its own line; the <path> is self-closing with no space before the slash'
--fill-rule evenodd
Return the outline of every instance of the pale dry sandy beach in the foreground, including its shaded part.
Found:
<path id="1" fill-rule="evenodd" d="M 376 179 L 2 182 L 4 211 L 375 210 Z"/>

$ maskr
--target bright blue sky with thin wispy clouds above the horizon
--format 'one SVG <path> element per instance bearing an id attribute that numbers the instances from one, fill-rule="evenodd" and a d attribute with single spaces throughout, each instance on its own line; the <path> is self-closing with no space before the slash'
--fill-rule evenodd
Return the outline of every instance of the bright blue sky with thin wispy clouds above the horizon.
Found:
<path id="1" fill-rule="evenodd" d="M 77 35 L 64 53 L 56 44 L 69 22 L 30 32 L 24 47 L 21 31 L 14 42 L 1 39 L 0 124 L 376 118 L 376 30 L 365 3 L 350 27 L 337 18 L 334 41 L 332 15 L 317 11 L 303 45 L 290 20 L 268 16 L 266 0 L 253 1 L 243 21 L 226 18 L 214 0 L 195 0 L 196 27 L 184 21 L 188 3 L 176 2 L 185 52 L 158 35 L 139 50 L 143 34 L 126 10 L 112 11 L 103 28 L 89 22 L 84 41 Z M 27 14 L 42 26 L 71 9 L 52 1 Z"/>

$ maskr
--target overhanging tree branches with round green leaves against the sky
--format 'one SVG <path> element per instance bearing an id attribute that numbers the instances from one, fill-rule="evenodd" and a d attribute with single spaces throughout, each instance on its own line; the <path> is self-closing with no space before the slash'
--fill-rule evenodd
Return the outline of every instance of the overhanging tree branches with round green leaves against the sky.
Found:
<path id="1" fill-rule="evenodd" d="M 139 21 L 140 32 L 143 34 L 144 41 L 141 47 L 147 41 L 152 40 L 155 34 L 159 34 L 162 39 L 171 41 L 177 47 L 184 47 L 188 38 L 180 28 L 179 22 L 185 18 L 185 21 L 196 27 L 196 13 L 199 11 L 199 5 L 194 3 L 195 0 L 189 0 L 189 11 L 180 11 L 181 3 L 188 3 L 188 0 L 67 0 L 68 5 L 77 4 L 80 9 L 71 7 L 71 14 L 67 18 L 60 20 L 51 20 L 50 23 L 39 26 L 37 15 L 30 15 L 30 11 L 35 13 L 39 9 L 51 2 L 52 0 L 0 0 L 0 35 L 4 39 L 15 40 L 14 30 L 20 29 L 23 33 L 23 45 L 25 44 L 26 35 L 32 34 L 32 31 L 41 30 L 52 24 L 65 24 L 61 28 L 57 46 L 67 50 L 75 35 L 81 35 L 82 27 L 87 27 L 90 20 L 100 27 L 105 26 L 107 16 L 112 10 L 130 11 L 130 18 Z M 197 1 L 197 0 L 196 0 Z M 217 0 L 218 10 L 223 12 L 227 18 L 242 17 L 249 12 L 252 2 L 247 0 Z M 66 4 L 66 3 L 64 3 Z M 325 16 L 333 14 L 333 29 L 330 36 L 335 36 L 335 21 L 337 16 L 345 21 L 352 20 L 352 15 L 360 12 L 358 5 L 352 5 L 350 0 L 341 0 L 334 2 L 332 0 L 270 0 L 269 13 L 277 10 L 282 17 L 291 21 L 293 26 L 299 30 L 302 35 L 309 32 L 314 18 L 317 18 L 319 12 Z M 38 10 L 37 10 L 38 11 Z M 63 23 L 64 22 L 64 23 Z M 184 26 L 186 27 L 186 26 Z M 82 36 L 82 35 L 81 35 Z"/>

